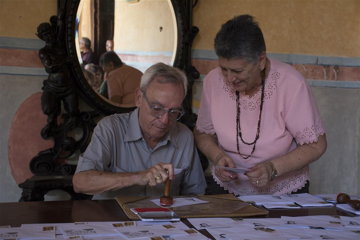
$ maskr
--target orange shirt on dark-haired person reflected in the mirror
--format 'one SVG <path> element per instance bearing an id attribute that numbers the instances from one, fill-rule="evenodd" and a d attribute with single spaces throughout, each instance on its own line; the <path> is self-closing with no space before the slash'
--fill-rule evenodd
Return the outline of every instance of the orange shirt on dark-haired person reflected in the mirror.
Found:
<path id="1" fill-rule="evenodd" d="M 111 71 L 107 78 L 109 100 L 135 106 L 135 90 L 140 86 L 141 76 L 141 71 L 125 64 Z"/>

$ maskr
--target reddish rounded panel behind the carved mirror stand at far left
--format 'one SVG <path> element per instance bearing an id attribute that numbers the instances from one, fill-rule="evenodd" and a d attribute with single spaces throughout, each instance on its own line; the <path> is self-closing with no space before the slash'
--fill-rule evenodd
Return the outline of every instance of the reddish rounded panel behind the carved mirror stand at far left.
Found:
<path id="1" fill-rule="evenodd" d="M 39 151 L 53 146 L 53 140 L 44 140 L 40 136 L 48 118 L 41 110 L 41 94 L 37 92 L 23 101 L 11 123 L 8 156 L 17 184 L 33 176 L 29 168 L 30 160 Z"/>

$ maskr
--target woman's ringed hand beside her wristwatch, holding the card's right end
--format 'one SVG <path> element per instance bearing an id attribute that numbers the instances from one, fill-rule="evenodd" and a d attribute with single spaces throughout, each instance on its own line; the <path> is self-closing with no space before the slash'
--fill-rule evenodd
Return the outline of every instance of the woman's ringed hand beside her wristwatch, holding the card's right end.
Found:
<path id="1" fill-rule="evenodd" d="M 270 182 L 272 168 L 269 162 L 259 163 L 249 168 L 253 172 L 244 173 L 251 183 L 257 187 L 266 186 Z"/>

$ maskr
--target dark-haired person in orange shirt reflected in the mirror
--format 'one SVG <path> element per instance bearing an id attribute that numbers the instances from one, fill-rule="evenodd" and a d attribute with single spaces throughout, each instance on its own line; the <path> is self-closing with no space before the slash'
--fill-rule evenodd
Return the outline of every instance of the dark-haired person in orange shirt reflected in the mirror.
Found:
<path id="1" fill-rule="evenodd" d="M 143 75 L 138 69 L 123 64 L 119 56 L 106 52 L 100 58 L 100 67 L 107 75 L 107 93 L 110 101 L 135 106 L 135 90 Z"/>

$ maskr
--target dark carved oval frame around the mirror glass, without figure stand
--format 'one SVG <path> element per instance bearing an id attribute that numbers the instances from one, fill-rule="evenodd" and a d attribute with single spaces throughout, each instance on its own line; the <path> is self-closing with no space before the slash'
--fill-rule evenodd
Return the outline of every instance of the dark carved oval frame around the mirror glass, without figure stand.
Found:
<path id="1" fill-rule="evenodd" d="M 64 1 L 59 1 L 59 4 L 60 3 L 64 4 Z M 65 41 L 68 55 L 73 59 L 77 59 L 75 24 L 79 3 L 80 0 L 67 0 L 66 4 L 67 14 L 65 23 Z M 197 27 L 192 26 L 192 9 L 196 5 L 197 1 L 193 4 L 192 0 L 171 0 L 171 3 L 174 9 L 177 26 L 177 47 L 173 66 L 183 70 L 188 77 L 189 90 L 183 103 L 187 116 L 184 116 L 184 118 L 190 116 L 190 118 L 194 119 L 194 117 L 192 117 L 193 112 L 191 108 L 192 85 L 194 83 L 194 78 L 199 77 L 199 72 L 191 65 L 191 46 L 196 34 L 199 31 Z M 77 82 L 78 94 L 93 109 L 98 110 L 100 113 L 107 116 L 114 113 L 127 113 L 136 108 L 124 108 L 108 103 L 89 85 L 80 63 L 74 64 L 72 68 Z"/>

